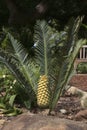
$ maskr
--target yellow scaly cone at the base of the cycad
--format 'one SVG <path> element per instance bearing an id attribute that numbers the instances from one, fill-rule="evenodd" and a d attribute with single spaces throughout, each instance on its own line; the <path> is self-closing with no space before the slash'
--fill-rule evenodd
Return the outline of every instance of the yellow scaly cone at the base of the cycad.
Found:
<path id="1" fill-rule="evenodd" d="M 37 104 L 41 108 L 49 106 L 51 100 L 51 93 L 48 86 L 48 78 L 46 75 L 40 76 L 37 89 Z"/>

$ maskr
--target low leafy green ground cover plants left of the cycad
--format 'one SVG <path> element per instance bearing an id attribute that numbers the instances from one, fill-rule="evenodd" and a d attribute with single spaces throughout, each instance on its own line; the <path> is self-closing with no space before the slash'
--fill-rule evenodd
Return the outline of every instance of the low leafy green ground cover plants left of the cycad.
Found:
<path id="1" fill-rule="evenodd" d="M 3 64 L 0 64 L 0 111 L 7 116 L 21 113 L 15 105 L 18 96 L 16 88 L 19 84 Z"/>

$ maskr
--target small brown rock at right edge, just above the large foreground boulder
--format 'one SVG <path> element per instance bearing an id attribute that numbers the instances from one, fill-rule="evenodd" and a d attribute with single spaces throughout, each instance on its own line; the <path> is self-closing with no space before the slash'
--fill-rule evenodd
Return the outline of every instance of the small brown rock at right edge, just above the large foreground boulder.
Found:
<path id="1" fill-rule="evenodd" d="M 76 120 L 87 120 L 87 110 L 81 110 L 75 116 Z"/>

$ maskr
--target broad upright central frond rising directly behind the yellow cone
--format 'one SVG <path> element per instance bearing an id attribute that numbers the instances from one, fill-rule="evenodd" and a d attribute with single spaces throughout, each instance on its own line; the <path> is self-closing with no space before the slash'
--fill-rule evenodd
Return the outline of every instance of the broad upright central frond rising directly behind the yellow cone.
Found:
<path id="1" fill-rule="evenodd" d="M 56 84 L 59 66 L 58 58 L 52 55 L 53 41 L 55 40 L 52 37 L 53 33 L 47 22 L 37 21 L 34 35 L 36 63 L 40 66 L 40 75 L 48 76 L 50 81 L 49 87 L 53 90 Z"/>

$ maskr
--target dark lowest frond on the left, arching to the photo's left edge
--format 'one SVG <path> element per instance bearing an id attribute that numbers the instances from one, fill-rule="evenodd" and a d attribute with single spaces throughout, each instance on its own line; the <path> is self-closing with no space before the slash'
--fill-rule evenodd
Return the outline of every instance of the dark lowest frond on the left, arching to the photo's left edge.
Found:
<path id="1" fill-rule="evenodd" d="M 12 72 L 16 79 L 23 85 L 23 87 L 28 89 L 29 93 L 32 92 L 30 84 L 26 81 L 19 67 L 16 65 L 14 57 L 12 57 L 4 50 L 0 49 L 0 62 L 4 63 L 7 66 L 7 68 Z"/>

